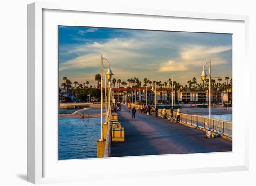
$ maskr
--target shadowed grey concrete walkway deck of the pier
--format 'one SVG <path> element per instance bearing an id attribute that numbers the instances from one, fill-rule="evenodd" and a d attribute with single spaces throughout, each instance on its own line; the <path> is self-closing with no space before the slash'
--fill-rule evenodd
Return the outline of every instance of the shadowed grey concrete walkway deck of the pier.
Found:
<path id="1" fill-rule="evenodd" d="M 232 141 L 204 138 L 201 130 L 155 115 L 137 110 L 132 119 L 131 112 L 123 106 L 118 117 L 125 128 L 125 142 L 112 143 L 111 157 L 232 151 Z"/>

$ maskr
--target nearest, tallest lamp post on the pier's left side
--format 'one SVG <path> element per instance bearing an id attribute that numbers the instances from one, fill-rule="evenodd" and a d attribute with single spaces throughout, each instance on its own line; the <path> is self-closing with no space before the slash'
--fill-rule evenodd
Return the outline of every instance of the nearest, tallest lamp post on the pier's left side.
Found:
<path id="1" fill-rule="evenodd" d="M 101 56 L 101 138 L 99 139 L 99 141 L 104 141 L 104 139 L 103 139 L 103 78 L 102 78 L 102 75 L 103 75 L 103 60 L 106 60 L 108 62 L 107 59 L 104 59 Z M 108 81 L 111 79 L 112 75 L 114 75 L 111 71 L 109 62 L 108 62 L 108 70 L 107 70 L 106 75 L 107 75 Z"/>

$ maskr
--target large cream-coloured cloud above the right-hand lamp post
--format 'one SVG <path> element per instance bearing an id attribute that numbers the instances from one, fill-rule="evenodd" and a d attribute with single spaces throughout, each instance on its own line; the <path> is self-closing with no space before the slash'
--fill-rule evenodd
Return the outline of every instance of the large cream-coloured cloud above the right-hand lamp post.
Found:
<path id="1" fill-rule="evenodd" d="M 179 56 L 160 65 L 160 72 L 185 71 L 192 66 L 202 66 L 209 59 L 215 64 L 226 64 L 228 61 L 221 58 L 220 53 L 232 50 L 231 46 L 204 46 L 190 45 L 183 47 Z"/>

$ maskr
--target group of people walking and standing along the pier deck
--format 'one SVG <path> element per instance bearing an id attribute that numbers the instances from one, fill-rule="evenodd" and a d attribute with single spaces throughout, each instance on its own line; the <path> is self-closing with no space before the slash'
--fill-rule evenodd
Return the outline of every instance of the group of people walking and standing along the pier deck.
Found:
<path id="1" fill-rule="evenodd" d="M 127 107 L 128 107 L 129 112 L 132 112 L 132 118 L 134 119 L 135 113 L 136 113 L 135 107 L 133 107 L 131 109 L 131 103 L 128 103 Z M 143 104 L 143 105 L 140 105 L 139 110 L 141 113 L 147 113 L 147 115 L 150 115 L 150 114 L 152 114 L 151 111 L 153 108 L 154 108 L 153 105 L 150 106 L 150 104 L 148 104 L 148 105 Z M 170 108 L 170 117 L 168 117 L 167 110 L 164 108 L 163 112 L 162 112 L 162 118 L 168 119 L 168 121 L 175 121 L 175 119 L 173 117 L 173 111 L 174 111 L 174 109 L 173 109 L 173 107 L 171 107 Z M 176 122 L 179 122 L 180 121 L 180 109 L 179 108 L 177 109 L 176 115 L 177 115 Z M 158 108 L 157 107 L 155 108 L 155 116 L 158 117 Z"/>

